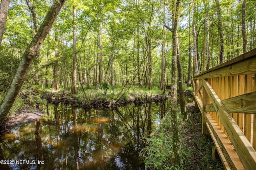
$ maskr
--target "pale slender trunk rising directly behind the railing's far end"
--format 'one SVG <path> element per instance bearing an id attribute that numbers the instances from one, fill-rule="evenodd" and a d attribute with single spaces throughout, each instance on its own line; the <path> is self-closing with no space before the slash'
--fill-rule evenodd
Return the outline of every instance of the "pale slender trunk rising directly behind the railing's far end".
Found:
<path id="1" fill-rule="evenodd" d="M 194 58 L 194 74 L 199 74 L 199 68 L 198 68 L 198 60 L 197 60 L 197 45 L 196 45 L 196 4 L 194 3 L 193 8 L 194 14 L 193 14 L 193 21 L 192 21 L 192 27 L 193 27 L 193 58 Z"/>

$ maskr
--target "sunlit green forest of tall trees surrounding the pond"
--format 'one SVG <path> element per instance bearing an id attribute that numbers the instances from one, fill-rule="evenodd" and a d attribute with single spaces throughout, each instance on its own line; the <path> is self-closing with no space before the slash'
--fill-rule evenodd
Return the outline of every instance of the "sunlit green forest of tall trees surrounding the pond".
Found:
<path id="1" fill-rule="evenodd" d="M 0 124 L 50 98 L 117 105 L 128 93 L 162 94 L 179 143 L 184 89 L 256 47 L 255 9 L 255 0 L 1 0 Z"/>

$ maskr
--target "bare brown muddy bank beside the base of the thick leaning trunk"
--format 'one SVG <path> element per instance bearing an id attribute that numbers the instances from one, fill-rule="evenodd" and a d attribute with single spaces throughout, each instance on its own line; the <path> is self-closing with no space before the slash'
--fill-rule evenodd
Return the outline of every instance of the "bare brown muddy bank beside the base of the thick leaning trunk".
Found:
<path id="1" fill-rule="evenodd" d="M 10 115 L 10 117 L 2 123 L 0 126 L 0 135 L 20 125 L 36 121 L 40 119 L 42 115 L 44 115 L 44 111 L 40 109 L 24 107 L 18 113 Z"/>

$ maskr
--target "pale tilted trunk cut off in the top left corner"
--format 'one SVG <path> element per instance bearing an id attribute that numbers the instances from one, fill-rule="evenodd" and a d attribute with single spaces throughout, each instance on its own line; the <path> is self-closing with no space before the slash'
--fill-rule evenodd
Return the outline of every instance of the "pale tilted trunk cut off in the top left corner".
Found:
<path id="1" fill-rule="evenodd" d="M 6 23 L 6 18 L 8 14 L 8 8 L 9 8 L 10 0 L 1 0 L 0 5 L 0 47 L 4 35 L 4 27 Z"/>

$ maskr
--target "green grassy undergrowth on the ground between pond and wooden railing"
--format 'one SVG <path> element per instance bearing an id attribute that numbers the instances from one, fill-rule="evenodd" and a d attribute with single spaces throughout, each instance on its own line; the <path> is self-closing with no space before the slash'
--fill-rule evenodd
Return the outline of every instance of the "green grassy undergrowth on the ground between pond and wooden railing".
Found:
<path id="1" fill-rule="evenodd" d="M 200 113 L 193 109 L 188 109 L 190 115 L 188 121 L 182 121 L 181 114 L 178 113 L 180 121 L 180 166 L 173 168 L 171 162 L 172 155 L 172 132 L 170 129 L 171 117 L 167 114 L 160 124 L 158 131 L 149 138 L 146 138 L 146 147 L 141 151 L 144 156 L 145 168 L 158 169 L 178 169 L 178 170 L 216 170 L 224 169 L 220 160 L 212 159 L 212 141 L 202 135 L 202 123 Z"/>

